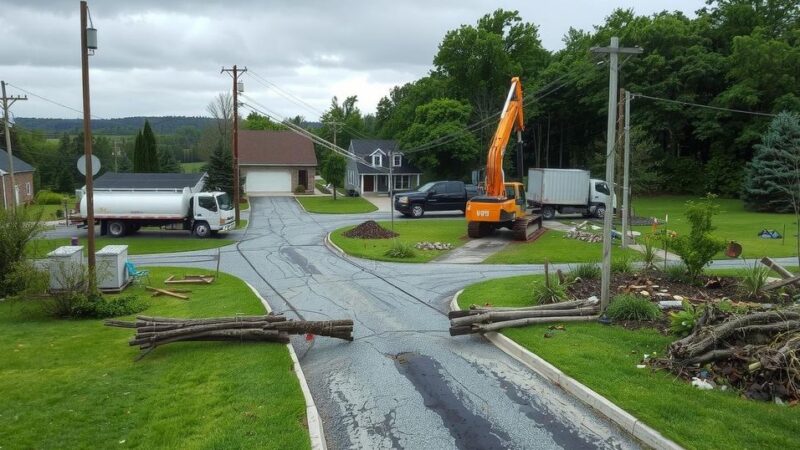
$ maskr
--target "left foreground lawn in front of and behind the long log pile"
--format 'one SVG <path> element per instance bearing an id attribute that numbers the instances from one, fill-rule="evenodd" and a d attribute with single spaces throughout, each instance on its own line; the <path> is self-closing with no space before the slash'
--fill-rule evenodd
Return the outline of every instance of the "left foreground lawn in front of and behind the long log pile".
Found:
<path id="1" fill-rule="evenodd" d="M 196 269 L 151 269 L 155 285 Z M 262 314 L 239 279 L 150 299 L 151 315 Z M 129 289 L 146 295 L 143 288 Z M 149 296 L 148 296 L 149 298 Z M 286 346 L 184 342 L 139 362 L 134 330 L 57 320 L 32 300 L 0 302 L 2 448 L 309 448 Z"/>

